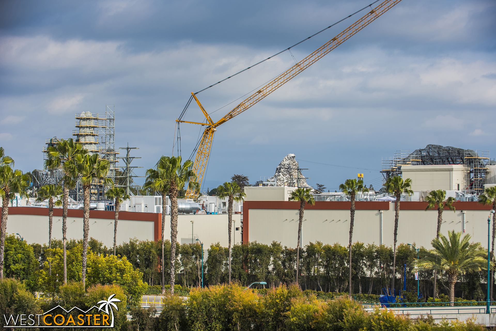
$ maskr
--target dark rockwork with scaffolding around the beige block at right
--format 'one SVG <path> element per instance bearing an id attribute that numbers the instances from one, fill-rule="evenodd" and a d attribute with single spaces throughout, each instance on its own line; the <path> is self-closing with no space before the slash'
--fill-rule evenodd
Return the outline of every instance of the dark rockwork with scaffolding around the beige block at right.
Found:
<path id="1" fill-rule="evenodd" d="M 427 145 L 426 148 L 396 151 L 394 157 L 382 160 L 382 184 L 387 178 L 401 176 L 402 165 L 464 165 L 469 179 L 462 190 L 477 195 L 484 191 L 486 174 L 491 164 L 490 152 L 452 146 Z"/>

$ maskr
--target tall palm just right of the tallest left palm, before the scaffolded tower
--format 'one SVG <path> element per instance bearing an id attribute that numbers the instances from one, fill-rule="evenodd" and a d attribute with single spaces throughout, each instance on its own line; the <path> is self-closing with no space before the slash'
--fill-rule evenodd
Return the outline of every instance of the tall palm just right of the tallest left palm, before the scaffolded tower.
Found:
<path id="1" fill-rule="evenodd" d="M 109 173 L 109 161 L 98 160 L 98 154 L 77 154 L 74 156 L 74 166 L 83 184 L 83 254 L 82 275 L 83 287 L 86 288 L 86 257 L 88 253 L 88 235 L 90 231 L 90 189 L 91 184 L 101 181 L 103 185 L 112 182 L 107 178 Z"/>

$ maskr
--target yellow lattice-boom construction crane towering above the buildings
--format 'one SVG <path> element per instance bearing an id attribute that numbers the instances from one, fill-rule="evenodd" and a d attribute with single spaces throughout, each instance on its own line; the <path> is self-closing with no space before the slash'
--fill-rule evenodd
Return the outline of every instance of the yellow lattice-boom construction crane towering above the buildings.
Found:
<path id="1" fill-rule="evenodd" d="M 327 43 L 325 43 L 323 46 L 321 46 L 319 49 L 317 49 L 315 52 L 312 54 L 308 55 L 305 57 L 303 60 L 300 62 L 296 63 L 293 67 L 289 68 L 282 74 L 280 74 L 277 78 L 272 80 L 270 83 L 266 84 L 264 87 L 262 87 L 260 90 L 249 96 L 247 99 L 242 101 L 238 106 L 236 106 L 233 110 L 228 112 L 225 116 L 223 116 L 221 119 L 219 119 L 217 122 L 214 122 L 212 118 L 210 118 L 208 112 L 203 108 L 201 105 L 200 101 L 198 98 L 196 98 L 195 93 L 191 92 L 192 98 L 196 101 L 198 106 L 200 107 L 200 110 L 203 112 L 203 115 L 205 115 L 205 118 L 207 120 L 206 123 L 200 123 L 200 122 L 191 122 L 191 121 L 184 121 L 180 119 L 176 119 L 177 122 L 181 123 L 192 123 L 192 124 L 199 124 L 199 125 L 206 125 L 207 127 L 203 131 L 203 135 L 201 137 L 200 143 L 198 145 L 198 150 L 196 152 L 196 158 L 194 160 L 193 164 L 193 170 L 196 173 L 196 176 L 198 177 L 198 182 L 201 186 L 201 182 L 203 180 L 203 175 L 205 173 L 205 169 L 208 163 L 208 157 L 210 156 L 210 148 L 212 147 L 212 140 L 214 136 L 214 132 L 217 131 L 217 126 L 221 125 L 222 123 L 227 122 L 234 116 L 242 113 L 243 111 L 247 110 L 266 96 L 268 96 L 270 93 L 274 92 L 277 90 L 279 87 L 284 85 L 284 83 L 288 82 L 291 78 L 295 77 L 298 75 L 300 72 L 308 68 L 310 65 L 315 63 L 318 59 L 320 59 L 322 56 L 326 55 L 339 45 L 341 45 L 343 42 L 345 42 L 347 39 L 349 39 L 351 36 L 356 34 L 358 31 L 362 30 L 364 27 L 366 27 L 369 23 L 371 23 L 373 20 L 375 20 L 377 17 L 391 9 L 395 4 L 400 2 L 401 0 L 385 0 L 381 4 L 379 4 L 377 7 L 373 8 L 369 13 L 367 13 L 365 16 L 357 20 L 355 23 L 350 25 L 346 30 L 338 34 L 336 37 L 332 38 L 329 40 Z M 351 15 L 350 15 L 351 16 Z M 194 198 L 197 196 L 196 192 L 193 191 L 187 191 L 186 192 L 186 197 L 187 198 Z"/>

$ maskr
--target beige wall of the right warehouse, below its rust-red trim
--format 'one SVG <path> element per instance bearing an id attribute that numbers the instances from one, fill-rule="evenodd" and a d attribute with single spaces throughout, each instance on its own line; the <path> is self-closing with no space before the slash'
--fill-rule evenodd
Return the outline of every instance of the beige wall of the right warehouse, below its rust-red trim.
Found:
<path id="1" fill-rule="evenodd" d="M 393 245 L 394 204 L 382 213 L 382 243 Z M 444 211 L 441 233 L 462 231 L 461 211 Z M 487 247 L 488 211 L 466 211 L 466 233 L 473 241 Z M 302 245 L 309 242 L 340 243 L 347 246 L 350 231 L 349 210 L 306 210 L 302 225 Z M 416 243 L 431 247 L 437 226 L 437 211 L 402 210 L 398 224 L 399 243 Z M 273 240 L 283 246 L 296 247 L 298 239 L 298 210 L 249 210 L 249 240 L 270 244 Z M 377 210 L 357 210 L 353 242 L 381 242 L 380 213 Z"/>

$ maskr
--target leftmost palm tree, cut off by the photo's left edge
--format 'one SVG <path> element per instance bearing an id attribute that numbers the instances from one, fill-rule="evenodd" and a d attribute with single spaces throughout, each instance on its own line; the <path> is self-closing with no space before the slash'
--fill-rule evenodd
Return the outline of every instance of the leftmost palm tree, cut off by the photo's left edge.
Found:
<path id="1" fill-rule="evenodd" d="M 15 193 L 21 198 L 26 198 L 26 188 L 29 176 L 23 174 L 19 169 L 12 169 L 14 161 L 5 156 L 3 148 L 0 147 L 0 197 L 2 198 L 1 227 L 0 227 L 0 279 L 3 279 L 3 252 L 5 250 L 5 234 L 7 231 L 8 202 L 13 199 Z"/>

